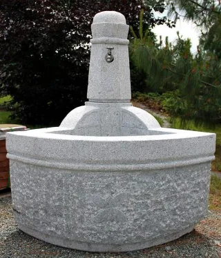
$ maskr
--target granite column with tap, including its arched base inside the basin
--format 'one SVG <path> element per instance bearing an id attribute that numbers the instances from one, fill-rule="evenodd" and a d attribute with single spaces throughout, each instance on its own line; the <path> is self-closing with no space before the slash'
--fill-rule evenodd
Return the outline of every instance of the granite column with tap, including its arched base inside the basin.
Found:
<path id="1" fill-rule="evenodd" d="M 91 26 L 93 39 L 86 106 L 71 111 L 61 127 L 73 135 L 148 135 L 157 120 L 131 100 L 128 28 L 119 12 L 99 12 Z"/>

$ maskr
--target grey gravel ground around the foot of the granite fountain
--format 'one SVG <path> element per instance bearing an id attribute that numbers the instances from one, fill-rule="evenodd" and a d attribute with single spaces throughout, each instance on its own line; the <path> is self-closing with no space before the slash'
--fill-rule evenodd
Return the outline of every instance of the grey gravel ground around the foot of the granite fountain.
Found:
<path id="1" fill-rule="evenodd" d="M 122 253 L 95 253 L 71 250 L 47 244 L 17 228 L 12 216 L 11 197 L 0 197 L 0 257 L 85 257 L 85 258 L 221 258 L 221 212 L 209 216 L 191 233 L 167 244 Z"/>

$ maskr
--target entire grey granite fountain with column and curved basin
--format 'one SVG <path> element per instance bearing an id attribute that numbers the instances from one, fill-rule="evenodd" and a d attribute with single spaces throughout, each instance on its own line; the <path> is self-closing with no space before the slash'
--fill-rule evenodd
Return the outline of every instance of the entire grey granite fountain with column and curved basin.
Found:
<path id="1" fill-rule="evenodd" d="M 88 99 L 57 128 L 7 133 L 19 228 L 51 244 L 123 252 L 191 232 L 208 210 L 215 135 L 161 128 L 131 105 L 128 26 L 92 25 Z"/>

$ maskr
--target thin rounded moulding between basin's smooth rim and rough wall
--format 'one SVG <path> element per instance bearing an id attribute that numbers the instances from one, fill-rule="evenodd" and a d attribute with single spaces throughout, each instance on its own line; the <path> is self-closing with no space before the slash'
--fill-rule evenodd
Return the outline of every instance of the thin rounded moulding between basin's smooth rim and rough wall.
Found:
<path id="1" fill-rule="evenodd" d="M 182 166 L 191 166 L 199 163 L 206 163 L 213 161 L 214 156 L 206 157 L 197 157 L 195 159 L 177 159 L 176 161 L 147 161 L 147 163 L 133 163 L 133 164 L 124 164 L 124 163 L 70 163 L 70 161 L 61 162 L 55 160 L 42 160 L 42 159 L 33 159 L 28 157 L 22 157 L 14 154 L 8 153 L 8 159 L 20 161 L 23 163 L 28 163 L 35 166 L 44 166 L 48 168 L 61 168 L 65 170 L 79 170 L 79 171 L 95 171 L 95 172 L 105 172 L 105 171 L 142 171 L 142 170 L 155 170 L 155 169 L 166 169 L 166 168 L 177 168 Z"/>

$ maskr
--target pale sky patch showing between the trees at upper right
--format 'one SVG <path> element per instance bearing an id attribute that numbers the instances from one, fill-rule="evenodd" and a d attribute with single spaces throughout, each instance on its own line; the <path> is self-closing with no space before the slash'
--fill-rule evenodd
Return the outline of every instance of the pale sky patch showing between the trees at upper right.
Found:
<path id="1" fill-rule="evenodd" d="M 187 38 L 191 39 L 191 43 L 192 43 L 191 51 L 193 52 L 193 54 L 195 54 L 197 52 L 197 46 L 199 44 L 200 30 L 197 29 L 195 24 L 193 24 L 191 21 L 189 22 L 184 21 L 183 18 L 181 17 L 180 19 L 177 20 L 175 28 L 169 28 L 164 24 L 164 25 L 156 26 L 153 29 L 153 32 L 157 34 L 157 39 L 160 40 L 160 35 L 161 35 L 164 41 L 165 37 L 168 36 L 169 42 L 171 43 L 175 43 L 175 39 L 177 39 L 177 31 L 180 32 L 180 36 L 182 36 L 182 39 L 187 39 Z"/>

